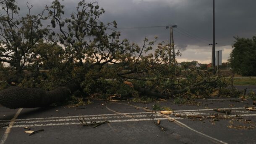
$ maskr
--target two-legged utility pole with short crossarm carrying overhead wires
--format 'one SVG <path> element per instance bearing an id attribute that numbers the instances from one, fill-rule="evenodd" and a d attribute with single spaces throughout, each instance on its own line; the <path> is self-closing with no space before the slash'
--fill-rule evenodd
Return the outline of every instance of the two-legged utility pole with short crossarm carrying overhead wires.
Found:
<path id="1" fill-rule="evenodd" d="M 174 50 L 174 39 L 173 39 L 173 28 L 177 28 L 177 25 L 174 26 L 166 26 L 166 28 L 170 28 L 170 53 L 169 53 L 169 65 L 171 67 L 172 60 L 175 64 L 175 50 Z"/>

